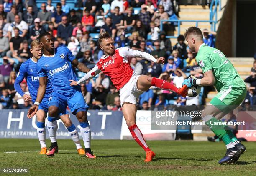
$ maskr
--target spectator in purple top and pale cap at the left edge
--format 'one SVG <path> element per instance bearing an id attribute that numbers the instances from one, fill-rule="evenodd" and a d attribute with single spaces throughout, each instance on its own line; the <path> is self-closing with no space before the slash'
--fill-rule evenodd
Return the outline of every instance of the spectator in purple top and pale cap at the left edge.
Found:
<path id="1" fill-rule="evenodd" d="M 10 72 L 13 70 L 14 60 L 9 57 L 3 57 L 3 65 L 0 65 L 0 74 L 2 74 L 5 83 L 7 84 L 10 77 Z"/>

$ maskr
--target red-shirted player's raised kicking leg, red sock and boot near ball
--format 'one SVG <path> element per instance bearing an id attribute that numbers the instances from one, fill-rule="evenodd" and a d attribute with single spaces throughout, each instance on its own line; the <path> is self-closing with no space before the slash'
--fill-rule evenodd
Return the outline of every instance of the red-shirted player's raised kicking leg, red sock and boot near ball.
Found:
<path id="1" fill-rule="evenodd" d="M 171 90 L 173 92 L 176 92 L 177 94 L 182 95 L 183 97 L 187 96 L 188 88 L 186 85 L 178 89 L 173 84 L 163 79 L 158 79 L 156 77 L 149 77 L 146 75 L 140 75 L 137 81 L 138 90 L 147 91 L 151 86 L 156 86 L 160 89 Z"/>

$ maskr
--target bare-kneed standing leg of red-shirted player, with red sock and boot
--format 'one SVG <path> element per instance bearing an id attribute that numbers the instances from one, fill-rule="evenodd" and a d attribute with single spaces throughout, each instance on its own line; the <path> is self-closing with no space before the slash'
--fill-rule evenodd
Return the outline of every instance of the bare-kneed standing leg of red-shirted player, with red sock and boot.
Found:
<path id="1" fill-rule="evenodd" d="M 138 128 L 136 124 L 136 104 L 131 104 L 128 102 L 124 102 L 122 106 L 123 117 L 125 118 L 128 129 L 133 136 L 133 139 L 143 148 L 146 152 L 145 162 L 151 161 L 155 157 L 155 153 L 151 151 L 151 149 L 146 144 L 145 139 L 143 138 L 143 134 L 141 130 Z"/>

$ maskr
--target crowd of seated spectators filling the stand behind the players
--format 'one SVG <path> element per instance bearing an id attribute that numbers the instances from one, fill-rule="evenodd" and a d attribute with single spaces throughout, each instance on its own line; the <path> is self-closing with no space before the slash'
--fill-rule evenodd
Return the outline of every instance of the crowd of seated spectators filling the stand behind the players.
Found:
<path id="1" fill-rule="evenodd" d="M 8 3 L 10 2 L 10 3 Z M 141 58 L 129 58 L 137 74 L 146 74 L 172 82 L 177 87 L 190 75 L 202 78 L 202 69 L 195 61 L 183 35 L 171 43 L 166 34 L 173 24 L 160 21 L 174 15 L 172 0 L 77 0 L 78 10 L 70 9 L 66 0 L 52 5 L 51 0 L 41 3 L 34 0 L 6 1 L 0 4 L 0 108 L 29 108 L 31 103 L 15 92 L 13 87 L 20 65 L 31 57 L 29 45 L 42 32 L 54 36 L 54 47 L 67 46 L 80 62 L 92 68 L 104 54 L 98 47 L 97 33 L 108 31 L 115 47 L 130 47 L 147 52 L 156 58 L 165 57 L 164 65 Z M 134 8 L 140 8 L 134 13 Z M 204 41 L 214 47 L 215 32 L 203 30 Z M 78 77 L 80 73 L 77 72 Z M 255 75 L 254 75 L 255 76 Z M 254 79 L 254 77 L 253 77 Z M 252 85 L 253 86 L 253 85 Z M 26 80 L 21 88 L 29 94 Z M 110 78 L 99 74 L 81 85 L 90 109 L 120 110 L 118 91 Z M 138 108 L 148 110 L 168 104 L 203 104 L 204 95 L 183 98 L 177 94 L 152 87 L 141 94 Z"/>

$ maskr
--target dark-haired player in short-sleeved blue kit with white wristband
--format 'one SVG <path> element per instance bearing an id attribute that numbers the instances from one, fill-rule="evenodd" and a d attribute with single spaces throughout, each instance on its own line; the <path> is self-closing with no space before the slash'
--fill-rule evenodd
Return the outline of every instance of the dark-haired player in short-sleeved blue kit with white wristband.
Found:
<path id="1" fill-rule="evenodd" d="M 35 104 L 28 110 L 28 117 L 33 117 L 37 112 L 39 104 L 42 102 L 46 87 L 47 77 L 53 85 L 53 93 L 49 99 L 48 111 L 49 117 L 56 118 L 59 113 L 65 113 L 68 106 L 72 114 L 75 114 L 80 122 L 80 129 L 85 146 L 85 156 L 95 158 L 91 152 L 91 130 L 87 121 L 87 104 L 84 101 L 81 89 L 79 86 L 71 87 L 69 80 L 77 80 L 72 66 L 79 69 L 81 72 L 89 72 L 81 62 L 72 55 L 72 52 L 67 47 L 54 48 L 53 37 L 48 33 L 42 33 L 38 37 L 44 54 L 38 60 L 36 69 L 39 76 L 39 88 L 37 92 Z"/>

